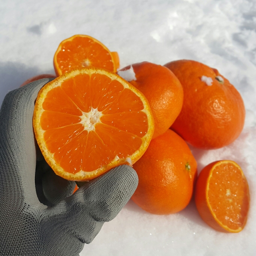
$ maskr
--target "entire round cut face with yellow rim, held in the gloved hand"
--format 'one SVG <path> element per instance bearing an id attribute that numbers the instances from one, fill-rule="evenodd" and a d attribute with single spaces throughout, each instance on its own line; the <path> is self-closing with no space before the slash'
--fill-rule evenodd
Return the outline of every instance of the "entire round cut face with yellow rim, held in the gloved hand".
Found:
<path id="1" fill-rule="evenodd" d="M 33 117 L 38 145 L 56 174 L 91 180 L 134 164 L 154 132 L 144 95 L 115 73 L 72 70 L 38 93 Z"/>

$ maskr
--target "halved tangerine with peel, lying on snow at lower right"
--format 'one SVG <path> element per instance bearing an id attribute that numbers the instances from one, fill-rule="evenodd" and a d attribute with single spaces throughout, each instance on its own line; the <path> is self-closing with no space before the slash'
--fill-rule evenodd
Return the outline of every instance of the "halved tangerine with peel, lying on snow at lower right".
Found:
<path id="1" fill-rule="evenodd" d="M 195 190 L 202 219 L 222 232 L 240 232 L 246 224 L 250 195 L 240 166 L 231 160 L 216 161 L 200 172 Z"/>

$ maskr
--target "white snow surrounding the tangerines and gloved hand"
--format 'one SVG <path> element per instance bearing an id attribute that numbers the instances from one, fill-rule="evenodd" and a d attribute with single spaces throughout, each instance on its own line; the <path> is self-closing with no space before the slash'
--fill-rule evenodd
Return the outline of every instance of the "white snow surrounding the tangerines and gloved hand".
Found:
<path id="1" fill-rule="evenodd" d="M 256 255 L 256 1 L 255 0 L 1 0 L 0 104 L 6 93 L 37 74 L 52 73 L 60 42 L 90 35 L 120 56 L 166 64 L 191 59 L 217 68 L 246 106 L 240 137 L 218 150 L 192 152 L 198 171 L 215 160 L 236 161 L 248 179 L 248 222 L 237 234 L 208 227 L 194 202 L 171 215 L 148 214 L 132 201 L 81 256 Z"/>

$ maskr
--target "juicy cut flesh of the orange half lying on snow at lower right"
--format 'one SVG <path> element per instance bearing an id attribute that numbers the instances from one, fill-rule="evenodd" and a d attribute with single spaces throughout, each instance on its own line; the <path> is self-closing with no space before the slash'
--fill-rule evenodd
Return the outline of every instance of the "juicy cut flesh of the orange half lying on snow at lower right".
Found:
<path id="1" fill-rule="evenodd" d="M 208 202 L 223 225 L 232 230 L 243 226 L 249 207 L 248 186 L 237 166 L 223 163 L 214 168 Z"/>

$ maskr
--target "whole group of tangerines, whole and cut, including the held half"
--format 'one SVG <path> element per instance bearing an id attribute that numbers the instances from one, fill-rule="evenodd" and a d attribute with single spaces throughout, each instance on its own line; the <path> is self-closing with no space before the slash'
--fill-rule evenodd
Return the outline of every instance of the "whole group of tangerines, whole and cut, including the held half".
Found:
<path id="1" fill-rule="evenodd" d="M 33 119 L 54 172 L 81 182 L 129 164 L 139 178 L 132 200 L 147 212 L 179 212 L 194 192 L 208 225 L 241 231 L 250 196 L 240 166 L 218 160 L 197 177 L 188 147 L 211 150 L 238 138 L 245 108 L 236 88 L 218 70 L 193 60 L 118 68 L 117 52 L 76 35 L 54 55 L 56 76 L 24 82 L 55 78 L 40 90 Z"/>

